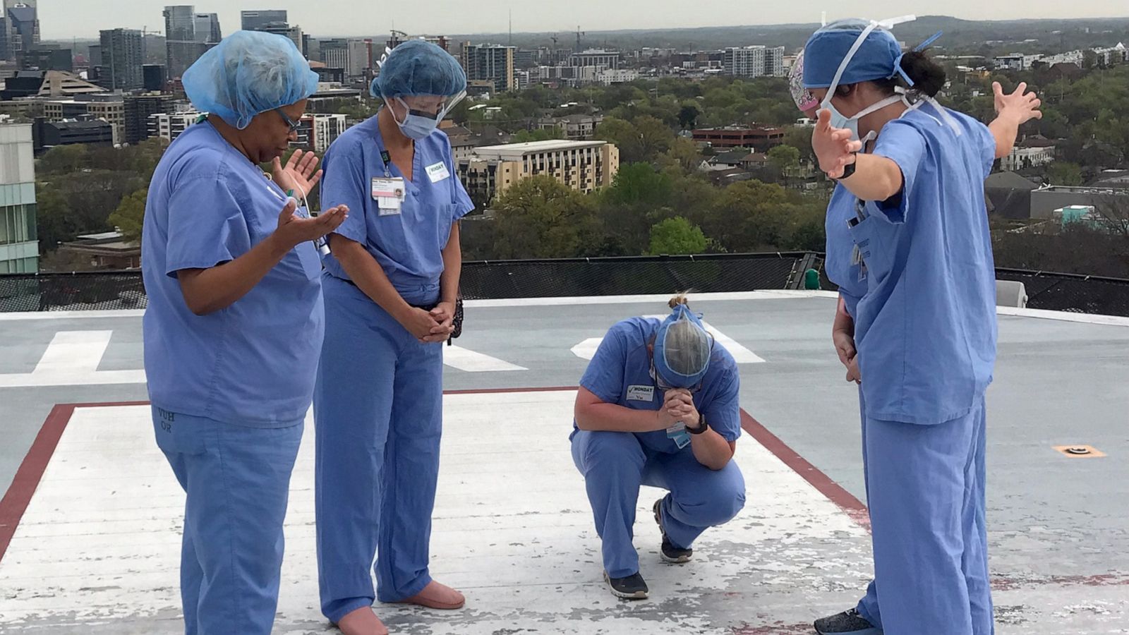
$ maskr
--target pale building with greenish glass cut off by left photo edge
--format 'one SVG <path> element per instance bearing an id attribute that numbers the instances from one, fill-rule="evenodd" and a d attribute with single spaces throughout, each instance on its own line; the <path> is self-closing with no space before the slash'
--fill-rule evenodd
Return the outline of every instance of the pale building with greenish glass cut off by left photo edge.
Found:
<path id="1" fill-rule="evenodd" d="M 32 124 L 0 125 L 0 273 L 35 273 L 35 158 Z"/>

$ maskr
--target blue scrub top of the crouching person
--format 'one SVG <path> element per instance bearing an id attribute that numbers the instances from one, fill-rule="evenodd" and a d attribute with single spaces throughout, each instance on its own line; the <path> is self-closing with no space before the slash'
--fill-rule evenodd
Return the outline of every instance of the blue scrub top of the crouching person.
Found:
<path id="1" fill-rule="evenodd" d="M 588 363 L 580 385 L 604 403 L 636 410 L 658 410 L 663 406 L 664 393 L 650 375 L 647 345 L 655 338 L 660 324 L 662 321 L 654 318 L 631 318 L 613 325 Z M 726 441 L 736 441 L 741 436 L 739 392 L 741 375 L 736 362 L 725 347 L 715 343 L 701 390 L 694 393 L 694 407 Z M 666 436 L 666 430 L 636 433 L 636 436 L 650 450 L 672 454 L 680 452 L 674 440 Z M 691 452 L 689 445 L 682 450 Z"/>

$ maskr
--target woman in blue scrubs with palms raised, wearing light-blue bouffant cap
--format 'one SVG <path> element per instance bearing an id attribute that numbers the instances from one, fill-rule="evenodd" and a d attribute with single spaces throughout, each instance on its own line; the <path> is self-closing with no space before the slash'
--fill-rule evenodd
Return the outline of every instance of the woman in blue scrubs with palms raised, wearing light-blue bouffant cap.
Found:
<path id="1" fill-rule="evenodd" d="M 157 444 L 187 493 L 186 635 L 269 635 L 290 471 L 322 348 L 313 155 L 287 166 L 317 75 L 290 40 L 238 32 L 184 73 L 210 113 L 165 151 L 149 185 L 141 266 L 145 368 Z M 274 163 L 273 175 L 259 165 Z"/>

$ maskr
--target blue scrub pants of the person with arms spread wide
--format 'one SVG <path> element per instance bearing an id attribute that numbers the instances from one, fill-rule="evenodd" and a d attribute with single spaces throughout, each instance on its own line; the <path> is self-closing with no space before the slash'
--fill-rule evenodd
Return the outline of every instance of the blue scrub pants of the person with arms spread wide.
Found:
<path id="1" fill-rule="evenodd" d="M 885 635 L 995 633 L 984 445 L 982 399 L 926 426 L 870 419 L 864 407 L 875 579 L 858 610 Z"/>

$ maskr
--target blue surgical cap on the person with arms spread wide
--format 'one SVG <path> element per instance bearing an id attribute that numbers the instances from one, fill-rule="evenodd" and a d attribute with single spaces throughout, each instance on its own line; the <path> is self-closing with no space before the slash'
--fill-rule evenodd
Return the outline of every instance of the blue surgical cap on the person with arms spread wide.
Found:
<path id="1" fill-rule="evenodd" d="M 839 66 L 869 24 L 860 19 L 838 20 L 812 34 L 804 46 L 804 88 L 830 88 Z M 893 77 L 901 54 L 893 34 L 875 27 L 851 56 L 839 86 Z"/>

